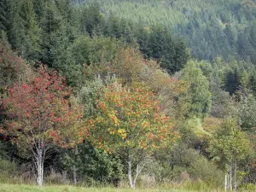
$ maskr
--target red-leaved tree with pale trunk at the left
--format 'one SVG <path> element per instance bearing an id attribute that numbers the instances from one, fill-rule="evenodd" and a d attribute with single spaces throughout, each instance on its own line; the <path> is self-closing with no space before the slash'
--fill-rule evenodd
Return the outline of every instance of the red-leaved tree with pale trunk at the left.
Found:
<path id="1" fill-rule="evenodd" d="M 29 83 L 14 84 L 3 95 L 7 110 L 1 133 L 9 137 L 20 154 L 32 154 L 38 185 L 43 184 L 44 160 L 55 145 L 63 148 L 82 143 L 88 134 L 83 127 L 83 108 L 55 71 L 39 67 Z"/>

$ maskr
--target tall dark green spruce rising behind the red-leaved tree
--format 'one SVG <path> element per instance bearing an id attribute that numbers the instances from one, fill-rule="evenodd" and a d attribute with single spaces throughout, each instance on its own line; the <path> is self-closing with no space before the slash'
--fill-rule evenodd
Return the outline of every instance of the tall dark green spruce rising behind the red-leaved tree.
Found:
<path id="1" fill-rule="evenodd" d="M 71 47 L 69 24 L 61 15 L 55 3 L 48 3 L 41 20 L 42 42 L 39 61 L 57 69 L 67 77 L 67 83 L 76 86 L 82 70 L 76 65 Z"/>

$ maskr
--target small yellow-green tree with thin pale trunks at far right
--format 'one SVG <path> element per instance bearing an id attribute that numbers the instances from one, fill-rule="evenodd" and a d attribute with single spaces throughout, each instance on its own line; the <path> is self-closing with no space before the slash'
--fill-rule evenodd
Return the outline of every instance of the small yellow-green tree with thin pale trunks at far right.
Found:
<path id="1" fill-rule="evenodd" d="M 212 160 L 226 172 L 225 189 L 230 188 L 232 190 L 232 167 L 235 166 L 236 175 L 237 161 L 243 160 L 251 151 L 250 142 L 245 133 L 239 130 L 236 119 L 224 119 L 210 140 L 209 151 Z"/>

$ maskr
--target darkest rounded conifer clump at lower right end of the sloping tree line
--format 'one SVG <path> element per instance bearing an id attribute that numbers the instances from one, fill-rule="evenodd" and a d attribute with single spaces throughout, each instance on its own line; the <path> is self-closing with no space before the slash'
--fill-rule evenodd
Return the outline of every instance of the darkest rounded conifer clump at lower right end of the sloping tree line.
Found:
<path id="1" fill-rule="evenodd" d="M 141 29 L 137 39 L 143 54 L 159 61 L 160 67 L 168 73 L 181 70 L 188 61 L 189 54 L 183 40 L 173 40 L 167 28 L 152 26 L 149 32 Z"/>

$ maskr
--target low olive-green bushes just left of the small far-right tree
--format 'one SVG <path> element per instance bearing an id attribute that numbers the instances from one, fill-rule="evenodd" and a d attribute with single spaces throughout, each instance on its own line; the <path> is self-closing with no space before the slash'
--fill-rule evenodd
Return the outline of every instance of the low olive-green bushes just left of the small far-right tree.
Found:
<path id="1" fill-rule="evenodd" d="M 222 184 L 224 173 L 193 148 L 180 143 L 172 151 L 160 150 L 156 155 L 160 168 L 158 176 L 183 183 L 201 181 L 208 187 L 216 188 Z"/>

